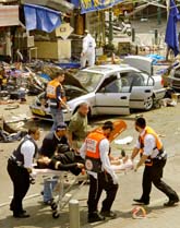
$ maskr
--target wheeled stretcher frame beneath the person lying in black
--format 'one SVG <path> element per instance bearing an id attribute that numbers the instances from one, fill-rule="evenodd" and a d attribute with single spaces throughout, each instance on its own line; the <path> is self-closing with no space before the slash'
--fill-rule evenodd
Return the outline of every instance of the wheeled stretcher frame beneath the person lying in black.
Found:
<path id="1" fill-rule="evenodd" d="M 33 169 L 34 177 L 41 176 L 44 180 L 52 180 L 52 177 L 58 177 L 58 183 L 51 189 L 52 201 L 50 207 L 52 217 L 58 218 L 60 212 L 69 203 L 69 201 L 79 192 L 79 190 L 87 182 L 86 173 L 77 177 L 67 171 L 59 171 L 52 169 Z M 74 187 L 77 187 L 73 194 L 68 194 Z"/>

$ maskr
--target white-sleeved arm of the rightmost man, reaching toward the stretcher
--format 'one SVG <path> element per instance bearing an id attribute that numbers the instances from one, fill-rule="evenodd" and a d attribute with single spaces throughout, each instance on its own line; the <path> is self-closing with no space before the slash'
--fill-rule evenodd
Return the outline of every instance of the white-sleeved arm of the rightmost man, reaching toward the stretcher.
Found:
<path id="1" fill-rule="evenodd" d="M 148 158 L 148 156 L 152 155 L 152 152 L 155 148 L 155 145 L 156 145 L 155 137 L 152 134 L 147 134 L 144 139 L 143 156 L 141 157 L 140 161 L 137 163 L 136 167 L 134 168 L 134 171 L 137 171 L 137 169 L 145 163 L 145 160 Z"/>

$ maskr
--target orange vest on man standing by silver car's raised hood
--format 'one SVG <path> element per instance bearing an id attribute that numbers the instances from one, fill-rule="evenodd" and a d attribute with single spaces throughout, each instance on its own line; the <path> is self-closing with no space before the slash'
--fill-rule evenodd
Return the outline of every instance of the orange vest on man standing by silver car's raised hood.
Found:
<path id="1" fill-rule="evenodd" d="M 46 92 L 47 92 L 47 97 L 50 99 L 57 99 L 57 87 L 61 87 L 61 99 L 63 101 L 67 101 L 65 95 L 64 95 L 64 89 L 61 85 L 61 83 L 57 82 L 56 80 L 52 80 L 48 83 Z"/>

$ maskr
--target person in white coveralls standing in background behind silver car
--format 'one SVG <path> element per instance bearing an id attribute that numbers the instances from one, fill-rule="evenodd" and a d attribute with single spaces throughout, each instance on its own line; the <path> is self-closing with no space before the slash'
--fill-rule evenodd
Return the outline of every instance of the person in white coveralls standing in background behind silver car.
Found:
<path id="1" fill-rule="evenodd" d="M 95 64 L 95 58 L 96 58 L 95 48 L 96 48 L 95 39 L 88 33 L 88 31 L 85 31 L 83 38 L 83 49 L 81 52 L 81 68 L 86 67 L 86 61 L 88 62 L 88 67 L 93 67 Z"/>

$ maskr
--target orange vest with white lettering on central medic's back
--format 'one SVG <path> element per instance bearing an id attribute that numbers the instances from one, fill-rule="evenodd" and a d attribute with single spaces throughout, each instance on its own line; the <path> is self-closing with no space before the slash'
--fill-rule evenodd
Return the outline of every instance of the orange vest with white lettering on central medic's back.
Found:
<path id="1" fill-rule="evenodd" d="M 92 132 L 85 140 L 86 143 L 86 156 L 85 167 L 89 171 L 99 172 L 101 171 L 99 143 L 106 136 L 100 131 Z"/>

